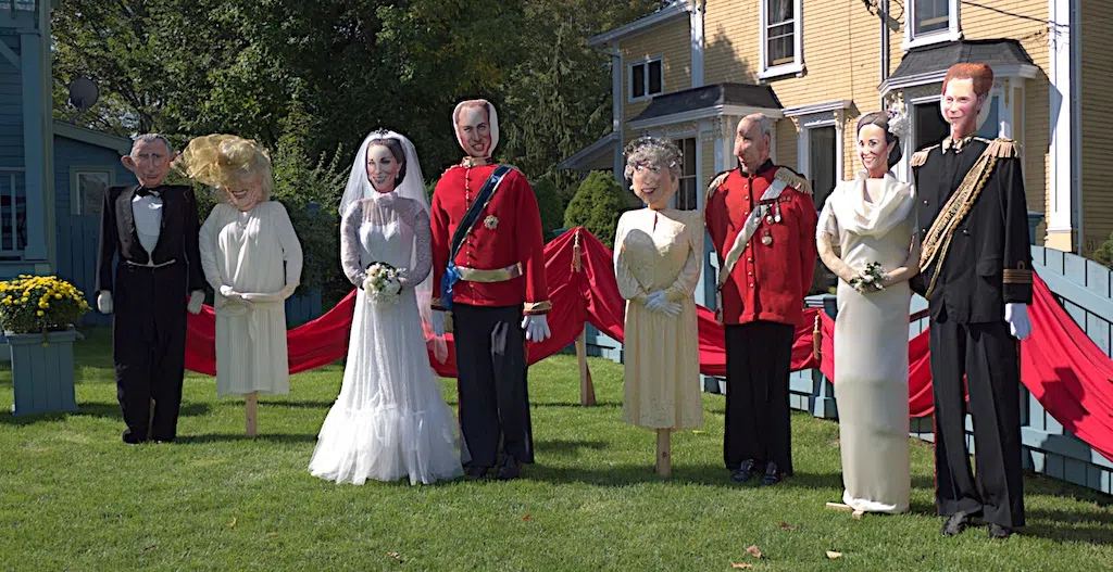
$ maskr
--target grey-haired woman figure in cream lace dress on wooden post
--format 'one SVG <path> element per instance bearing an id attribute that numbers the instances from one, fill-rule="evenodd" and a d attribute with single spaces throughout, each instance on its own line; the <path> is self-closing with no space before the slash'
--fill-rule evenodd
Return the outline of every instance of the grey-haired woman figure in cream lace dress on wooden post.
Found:
<path id="1" fill-rule="evenodd" d="M 703 422 L 692 298 L 703 213 L 669 208 L 681 172 L 676 145 L 642 138 L 626 154 L 626 178 L 648 208 L 623 213 L 614 235 L 614 275 L 627 300 L 622 420 L 657 430 L 657 471 L 667 476 L 670 431 Z"/>

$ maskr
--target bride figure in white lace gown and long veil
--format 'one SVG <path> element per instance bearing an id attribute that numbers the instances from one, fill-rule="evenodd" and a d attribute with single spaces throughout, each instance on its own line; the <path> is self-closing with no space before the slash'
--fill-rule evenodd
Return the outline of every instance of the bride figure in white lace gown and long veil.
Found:
<path id="1" fill-rule="evenodd" d="M 441 395 L 430 351 L 447 349 L 430 322 L 432 247 L 429 200 L 417 153 L 391 131 L 367 136 L 341 200 L 341 263 L 358 288 L 339 397 L 309 461 L 315 476 L 363 484 L 411 484 L 463 474 L 467 460 L 455 415 Z M 400 270 L 393 302 L 373 303 L 367 267 Z"/>

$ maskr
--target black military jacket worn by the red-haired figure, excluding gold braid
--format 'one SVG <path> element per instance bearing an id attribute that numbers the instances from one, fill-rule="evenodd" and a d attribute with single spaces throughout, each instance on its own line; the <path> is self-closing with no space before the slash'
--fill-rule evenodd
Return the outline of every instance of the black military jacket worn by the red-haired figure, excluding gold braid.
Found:
<path id="1" fill-rule="evenodd" d="M 944 152 L 943 145 L 934 145 L 919 151 L 918 161 L 914 158 L 916 231 L 920 243 L 991 143 L 973 138 L 961 151 Z M 1020 158 L 1015 154 L 998 158 L 983 184 L 981 194 L 955 229 L 943 261 L 937 259 L 920 269 L 920 274 L 912 281 L 913 290 L 923 295 L 935 278 L 928 299 L 935 319 L 946 315 L 957 323 L 996 322 L 1004 320 L 1006 303 L 1032 303 L 1032 250 Z"/>

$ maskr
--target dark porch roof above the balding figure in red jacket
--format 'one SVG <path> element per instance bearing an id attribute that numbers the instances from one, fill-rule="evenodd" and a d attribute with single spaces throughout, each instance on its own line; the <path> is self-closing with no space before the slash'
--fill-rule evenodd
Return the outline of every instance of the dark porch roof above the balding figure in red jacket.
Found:
<path id="1" fill-rule="evenodd" d="M 649 129 L 680 121 L 759 112 L 770 119 L 784 114 L 771 87 L 715 83 L 654 97 L 644 111 L 630 120 L 630 128 Z"/>

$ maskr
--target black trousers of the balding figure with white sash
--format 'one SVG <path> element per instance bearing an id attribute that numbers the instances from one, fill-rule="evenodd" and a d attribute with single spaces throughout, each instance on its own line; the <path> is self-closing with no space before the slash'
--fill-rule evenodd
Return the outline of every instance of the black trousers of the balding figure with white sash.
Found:
<path id="1" fill-rule="evenodd" d="M 792 474 L 788 374 L 796 328 L 776 322 L 727 325 L 727 469 L 754 459 Z"/>

